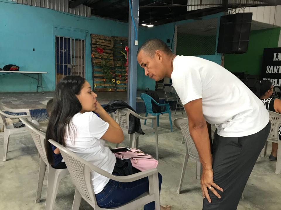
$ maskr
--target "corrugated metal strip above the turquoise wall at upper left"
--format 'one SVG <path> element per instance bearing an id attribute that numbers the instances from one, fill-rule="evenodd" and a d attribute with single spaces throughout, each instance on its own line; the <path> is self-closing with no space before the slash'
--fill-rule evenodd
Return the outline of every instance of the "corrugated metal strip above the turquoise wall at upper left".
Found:
<path id="1" fill-rule="evenodd" d="M 80 15 L 85 17 L 91 17 L 92 8 L 80 4 L 79 6 L 71 9 L 69 8 L 69 0 L 11 0 L 20 4 L 26 4 L 30 6 L 43 7 L 53 9 L 61 12 L 71 13 L 73 15 Z"/>

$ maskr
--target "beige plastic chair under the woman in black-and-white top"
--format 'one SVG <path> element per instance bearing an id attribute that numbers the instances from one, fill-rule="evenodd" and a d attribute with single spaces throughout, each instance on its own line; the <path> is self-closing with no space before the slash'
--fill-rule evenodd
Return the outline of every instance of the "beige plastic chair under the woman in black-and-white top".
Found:
<path id="1" fill-rule="evenodd" d="M 266 156 L 266 148 L 268 141 L 278 143 L 278 150 L 277 150 L 277 162 L 276 162 L 276 168 L 275 168 L 275 174 L 281 174 L 281 141 L 279 140 L 279 126 L 281 124 L 281 115 L 276 112 L 268 111 L 269 117 L 270 117 L 270 132 L 268 135 L 268 138 L 265 142 L 265 145 L 263 147 L 263 150 L 261 150 L 261 156 Z"/>

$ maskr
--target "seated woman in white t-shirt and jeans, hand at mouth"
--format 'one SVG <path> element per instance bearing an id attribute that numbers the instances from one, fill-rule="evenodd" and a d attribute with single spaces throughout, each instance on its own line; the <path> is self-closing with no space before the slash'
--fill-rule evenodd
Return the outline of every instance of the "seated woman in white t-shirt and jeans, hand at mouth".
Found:
<path id="1" fill-rule="evenodd" d="M 51 164 L 54 161 L 53 150 L 48 139 L 54 139 L 95 166 L 115 173 L 116 157 L 105 146 L 105 142 L 121 143 L 124 134 L 96 97 L 90 84 L 80 76 L 64 77 L 57 84 L 45 142 Z M 148 177 L 130 183 L 119 183 L 95 171 L 91 172 L 91 176 L 97 204 L 101 208 L 121 206 L 149 190 Z M 158 177 L 161 188 L 161 174 Z M 154 210 L 155 203 L 146 204 L 144 209 Z M 170 207 L 161 206 L 161 209 L 169 210 Z"/>

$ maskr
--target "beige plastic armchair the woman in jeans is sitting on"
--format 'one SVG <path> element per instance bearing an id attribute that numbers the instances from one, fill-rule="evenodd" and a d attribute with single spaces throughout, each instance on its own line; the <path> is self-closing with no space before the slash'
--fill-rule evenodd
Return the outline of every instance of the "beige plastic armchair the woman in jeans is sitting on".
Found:
<path id="1" fill-rule="evenodd" d="M 116 208 L 110 208 L 114 210 L 136 210 L 143 207 L 145 204 L 155 201 L 155 209 L 160 210 L 160 193 L 158 182 L 158 170 L 150 169 L 147 171 L 141 171 L 139 173 L 129 176 L 115 176 L 107 171 L 104 171 L 90 162 L 84 160 L 78 155 L 74 154 L 67 148 L 61 146 L 59 143 L 52 139 L 49 142 L 59 148 L 61 155 L 64 158 L 66 166 L 71 175 L 72 181 L 76 186 L 75 195 L 73 200 L 72 210 L 78 210 L 81 199 L 83 198 L 88 204 L 90 204 L 95 210 L 102 210 L 97 205 L 94 189 L 91 180 L 91 171 L 95 171 L 98 174 L 110 178 L 119 182 L 132 182 L 144 177 L 148 177 L 149 180 L 149 192 L 145 192 L 133 201 L 124 204 Z M 124 195 L 126 196 L 126 195 Z"/>

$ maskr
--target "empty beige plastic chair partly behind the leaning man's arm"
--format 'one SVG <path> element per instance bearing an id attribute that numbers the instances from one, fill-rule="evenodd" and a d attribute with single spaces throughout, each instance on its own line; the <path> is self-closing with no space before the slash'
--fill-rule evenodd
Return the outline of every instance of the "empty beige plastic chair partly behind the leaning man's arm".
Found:
<path id="1" fill-rule="evenodd" d="M 181 170 L 181 178 L 179 181 L 179 188 L 177 190 L 177 193 L 180 194 L 181 193 L 181 186 L 182 186 L 182 182 L 184 180 L 184 174 L 186 171 L 186 164 L 189 158 L 191 158 L 192 160 L 196 161 L 196 179 L 201 178 L 201 162 L 199 160 L 199 155 L 197 152 L 197 149 L 195 147 L 195 144 L 190 136 L 189 133 L 189 127 L 188 127 L 188 119 L 186 118 L 177 118 L 174 120 L 174 125 L 178 128 L 181 129 L 181 132 L 184 136 L 184 140 L 185 140 L 185 145 L 186 145 L 186 154 L 184 157 L 184 164 Z"/>

